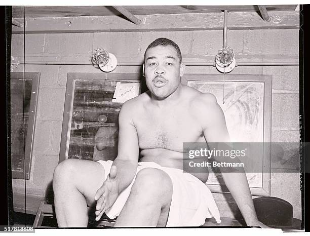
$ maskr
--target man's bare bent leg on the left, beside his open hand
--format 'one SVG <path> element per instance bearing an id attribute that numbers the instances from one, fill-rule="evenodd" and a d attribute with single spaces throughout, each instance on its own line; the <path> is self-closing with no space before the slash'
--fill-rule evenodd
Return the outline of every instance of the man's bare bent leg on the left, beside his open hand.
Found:
<path id="1" fill-rule="evenodd" d="M 95 204 L 103 181 L 104 168 L 97 162 L 68 159 L 56 167 L 53 191 L 59 227 L 87 227 L 87 206 Z"/>

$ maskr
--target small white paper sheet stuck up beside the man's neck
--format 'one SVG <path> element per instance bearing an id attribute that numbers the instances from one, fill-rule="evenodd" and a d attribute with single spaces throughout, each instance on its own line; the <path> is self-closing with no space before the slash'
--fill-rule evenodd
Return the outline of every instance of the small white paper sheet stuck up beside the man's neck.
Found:
<path id="1" fill-rule="evenodd" d="M 114 91 L 112 102 L 126 102 L 139 95 L 140 83 L 118 82 Z"/>

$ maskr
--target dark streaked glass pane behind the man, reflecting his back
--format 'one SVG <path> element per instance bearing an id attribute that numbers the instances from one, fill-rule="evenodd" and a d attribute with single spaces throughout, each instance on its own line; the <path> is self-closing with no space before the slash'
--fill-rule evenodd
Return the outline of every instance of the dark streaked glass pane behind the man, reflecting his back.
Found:
<path id="1" fill-rule="evenodd" d="M 112 102 L 118 82 L 74 80 L 67 158 L 114 160 L 117 156 L 118 117 L 123 103 Z"/>

